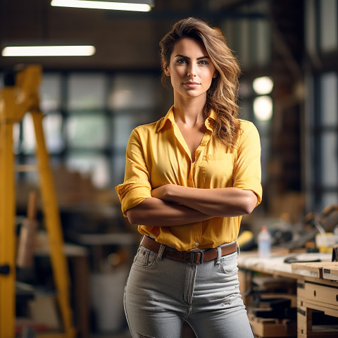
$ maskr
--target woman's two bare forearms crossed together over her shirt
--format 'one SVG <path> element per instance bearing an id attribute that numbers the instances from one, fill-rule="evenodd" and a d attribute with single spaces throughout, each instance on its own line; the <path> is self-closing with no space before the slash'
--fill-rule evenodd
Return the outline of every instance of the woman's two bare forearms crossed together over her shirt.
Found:
<path id="1" fill-rule="evenodd" d="M 151 191 L 151 197 L 127 211 L 132 224 L 173 226 L 215 217 L 251 213 L 257 196 L 237 188 L 199 189 L 165 184 Z"/>

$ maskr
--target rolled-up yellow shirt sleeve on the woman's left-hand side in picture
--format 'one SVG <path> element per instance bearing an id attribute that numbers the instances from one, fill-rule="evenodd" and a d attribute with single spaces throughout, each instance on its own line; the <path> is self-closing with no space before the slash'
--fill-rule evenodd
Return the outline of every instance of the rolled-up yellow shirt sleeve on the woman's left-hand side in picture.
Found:
<path id="1" fill-rule="evenodd" d="M 125 180 L 123 184 L 116 186 L 115 190 L 121 202 L 123 215 L 127 217 L 128 209 L 151 197 L 149 171 L 137 130 L 133 130 L 130 134 L 125 158 Z"/>

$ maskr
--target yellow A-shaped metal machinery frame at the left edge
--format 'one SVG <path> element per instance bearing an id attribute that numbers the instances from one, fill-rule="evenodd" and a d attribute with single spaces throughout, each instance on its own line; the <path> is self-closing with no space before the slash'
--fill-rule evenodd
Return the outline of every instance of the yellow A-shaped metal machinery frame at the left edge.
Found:
<path id="1" fill-rule="evenodd" d="M 37 142 L 42 208 L 49 234 L 51 266 L 56 285 L 63 332 L 39 334 L 37 337 L 75 337 L 73 313 L 70 309 L 70 279 L 63 252 L 63 233 L 56 201 L 54 180 L 46 150 L 43 114 L 39 110 L 38 87 L 42 77 L 39 65 L 18 70 L 13 85 L 0 91 L 0 337 L 15 337 L 15 167 L 13 154 L 13 124 L 32 114 Z"/>

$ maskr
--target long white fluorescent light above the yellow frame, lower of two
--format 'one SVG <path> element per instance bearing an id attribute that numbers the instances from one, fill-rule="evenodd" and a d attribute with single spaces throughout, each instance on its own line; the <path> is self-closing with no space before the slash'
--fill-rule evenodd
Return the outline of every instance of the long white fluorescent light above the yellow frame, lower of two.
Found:
<path id="1" fill-rule="evenodd" d="M 91 56 L 94 46 L 7 46 L 2 56 Z"/>

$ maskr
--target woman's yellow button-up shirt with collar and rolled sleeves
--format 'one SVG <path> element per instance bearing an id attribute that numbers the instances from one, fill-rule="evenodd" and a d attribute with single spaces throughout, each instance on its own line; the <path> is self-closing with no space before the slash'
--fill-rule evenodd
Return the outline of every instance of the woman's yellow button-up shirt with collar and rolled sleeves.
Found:
<path id="1" fill-rule="evenodd" d="M 213 137 L 215 113 L 206 119 L 206 132 L 192 162 L 187 143 L 175 123 L 173 107 L 155 123 L 140 125 L 130 135 L 126 151 L 125 182 L 115 189 L 123 215 L 151 197 L 151 189 L 163 184 L 184 187 L 237 187 L 251 190 L 261 203 L 261 144 L 253 123 L 240 120 L 234 147 Z M 142 234 L 180 251 L 213 248 L 237 239 L 242 216 L 217 217 L 202 222 L 161 227 L 139 225 Z"/>

